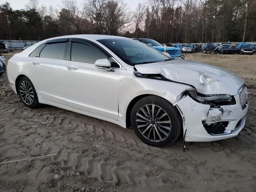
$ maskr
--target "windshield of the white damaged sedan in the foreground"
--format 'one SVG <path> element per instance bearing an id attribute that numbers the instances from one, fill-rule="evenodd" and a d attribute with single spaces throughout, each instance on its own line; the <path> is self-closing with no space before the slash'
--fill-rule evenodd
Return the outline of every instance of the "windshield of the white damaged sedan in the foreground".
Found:
<path id="1" fill-rule="evenodd" d="M 101 39 L 98 42 L 109 48 L 129 65 L 162 62 L 173 59 L 150 46 L 131 39 Z"/>

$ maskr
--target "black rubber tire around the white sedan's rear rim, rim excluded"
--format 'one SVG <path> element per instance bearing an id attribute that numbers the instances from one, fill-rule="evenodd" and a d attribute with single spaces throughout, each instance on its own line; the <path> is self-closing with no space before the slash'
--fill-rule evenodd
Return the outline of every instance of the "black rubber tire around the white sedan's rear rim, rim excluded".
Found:
<path id="1" fill-rule="evenodd" d="M 33 98 L 32 102 L 31 102 L 31 104 L 25 103 L 24 100 L 22 99 L 21 94 L 20 94 L 20 92 L 22 91 L 22 90 L 20 89 L 20 86 L 21 86 L 21 83 L 24 82 L 24 81 L 25 81 L 25 82 L 28 82 L 28 83 L 30 84 L 31 88 L 32 88 L 32 92 L 33 92 L 34 98 Z M 39 101 L 38 101 L 38 97 L 37 97 L 37 94 L 36 94 L 36 89 L 34 88 L 34 85 L 33 85 L 32 82 L 30 81 L 30 79 L 27 78 L 26 76 L 20 78 L 20 80 L 19 80 L 19 82 L 18 82 L 18 95 L 20 96 L 20 100 L 22 101 L 22 103 L 23 103 L 26 107 L 29 107 L 29 108 L 37 108 L 37 107 L 40 106 L 40 103 L 39 103 Z"/>

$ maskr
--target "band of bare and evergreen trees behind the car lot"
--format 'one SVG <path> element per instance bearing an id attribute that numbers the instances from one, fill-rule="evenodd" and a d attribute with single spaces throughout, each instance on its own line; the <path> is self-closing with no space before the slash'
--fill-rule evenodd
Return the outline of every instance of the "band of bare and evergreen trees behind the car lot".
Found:
<path id="1" fill-rule="evenodd" d="M 43 40 L 70 34 L 152 38 L 161 43 L 256 41 L 256 0 L 147 0 L 131 11 L 120 0 L 29 0 L 0 5 L 0 39 Z"/>

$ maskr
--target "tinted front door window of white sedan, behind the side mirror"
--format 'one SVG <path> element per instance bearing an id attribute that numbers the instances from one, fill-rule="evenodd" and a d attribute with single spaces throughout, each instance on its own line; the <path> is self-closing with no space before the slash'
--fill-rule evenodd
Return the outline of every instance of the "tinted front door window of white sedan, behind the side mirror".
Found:
<path id="1" fill-rule="evenodd" d="M 94 64 L 98 59 L 107 59 L 101 50 L 87 44 L 73 42 L 71 47 L 71 61 Z"/>

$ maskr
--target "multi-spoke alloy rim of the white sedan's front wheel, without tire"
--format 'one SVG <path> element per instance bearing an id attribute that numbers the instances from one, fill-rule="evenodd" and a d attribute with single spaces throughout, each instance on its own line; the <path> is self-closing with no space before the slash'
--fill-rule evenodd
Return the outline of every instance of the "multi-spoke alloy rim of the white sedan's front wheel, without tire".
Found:
<path id="1" fill-rule="evenodd" d="M 170 135 L 170 117 L 157 105 L 146 104 L 139 108 L 135 121 L 140 134 L 149 141 L 162 142 Z"/>

